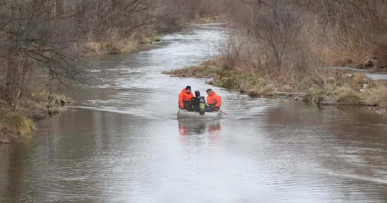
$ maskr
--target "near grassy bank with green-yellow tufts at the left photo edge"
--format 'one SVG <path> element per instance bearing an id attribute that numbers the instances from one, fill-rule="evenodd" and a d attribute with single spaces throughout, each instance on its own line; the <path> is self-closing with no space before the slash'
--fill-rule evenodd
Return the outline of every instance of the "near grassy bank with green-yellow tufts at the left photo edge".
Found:
<path id="1" fill-rule="evenodd" d="M 36 130 L 35 121 L 58 114 L 63 105 L 74 102 L 44 90 L 31 92 L 12 104 L 0 100 L 0 144 L 21 140 Z"/>

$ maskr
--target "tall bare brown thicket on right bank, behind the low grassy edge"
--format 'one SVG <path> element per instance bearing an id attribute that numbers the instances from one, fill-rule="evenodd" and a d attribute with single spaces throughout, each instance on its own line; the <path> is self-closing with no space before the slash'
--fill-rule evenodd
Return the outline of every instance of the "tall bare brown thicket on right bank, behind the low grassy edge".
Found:
<path id="1" fill-rule="evenodd" d="M 320 89 L 334 90 L 344 84 L 360 89 L 364 74 L 343 77 L 340 70 L 335 75 L 323 67 L 384 67 L 387 4 L 378 0 L 366 5 L 358 0 L 327 1 L 324 6 L 312 2 L 234 5 L 233 12 L 226 16 L 236 31 L 227 31 L 223 44 L 217 47 L 225 57 L 223 65 L 241 73 L 269 75 L 269 80 L 281 83 L 274 85 L 277 90 L 305 90 L 311 85 L 305 81 Z M 328 7 L 336 12 L 328 14 Z"/>

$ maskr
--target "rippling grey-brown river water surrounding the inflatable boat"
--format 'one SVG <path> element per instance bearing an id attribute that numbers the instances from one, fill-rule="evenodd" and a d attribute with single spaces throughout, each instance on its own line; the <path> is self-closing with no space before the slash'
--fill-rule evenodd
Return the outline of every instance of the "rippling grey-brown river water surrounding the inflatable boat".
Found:
<path id="1" fill-rule="evenodd" d="M 218 30 L 103 58 L 106 84 L 0 147 L 0 202 L 386 202 L 386 116 L 212 87 L 229 116 L 176 119 L 186 85 L 211 86 L 160 72 L 206 60 Z"/>

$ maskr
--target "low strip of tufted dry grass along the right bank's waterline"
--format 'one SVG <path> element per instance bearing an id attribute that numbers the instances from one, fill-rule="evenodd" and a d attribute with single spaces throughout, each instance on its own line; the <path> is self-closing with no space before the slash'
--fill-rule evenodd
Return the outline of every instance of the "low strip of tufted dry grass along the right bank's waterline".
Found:
<path id="1" fill-rule="evenodd" d="M 208 84 L 250 96 L 289 96 L 311 104 L 368 106 L 379 112 L 387 109 L 387 83 L 372 80 L 362 72 L 328 69 L 321 78 L 303 74 L 287 77 L 228 67 L 223 61 L 213 58 L 163 73 L 171 77 L 212 78 Z"/>

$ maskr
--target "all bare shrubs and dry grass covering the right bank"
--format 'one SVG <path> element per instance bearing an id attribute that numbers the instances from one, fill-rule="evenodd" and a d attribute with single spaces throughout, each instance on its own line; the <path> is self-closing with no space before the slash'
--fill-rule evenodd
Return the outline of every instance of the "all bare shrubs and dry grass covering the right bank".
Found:
<path id="1" fill-rule="evenodd" d="M 387 73 L 387 3 L 372 1 L 224 0 L 228 27 L 216 44 L 217 68 L 187 67 L 175 77 L 211 77 L 209 84 L 250 95 L 298 95 L 322 105 L 386 107 L 385 84 L 364 73 Z M 209 71 L 211 70 L 211 71 Z"/>

